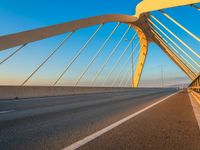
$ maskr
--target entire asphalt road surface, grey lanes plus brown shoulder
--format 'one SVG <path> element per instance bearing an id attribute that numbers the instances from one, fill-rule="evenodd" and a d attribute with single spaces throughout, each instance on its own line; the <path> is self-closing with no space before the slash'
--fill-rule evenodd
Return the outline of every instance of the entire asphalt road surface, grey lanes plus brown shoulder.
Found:
<path id="1" fill-rule="evenodd" d="M 137 89 L 0 100 L 0 149 L 62 149 L 141 112 L 79 148 L 199 150 L 200 132 L 188 93 L 162 101 L 174 92 Z"/>

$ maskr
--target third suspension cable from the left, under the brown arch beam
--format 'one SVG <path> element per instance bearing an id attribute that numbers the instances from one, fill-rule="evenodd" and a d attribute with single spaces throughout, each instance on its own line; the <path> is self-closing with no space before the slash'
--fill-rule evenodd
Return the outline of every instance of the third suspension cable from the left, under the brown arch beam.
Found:
<path id="1" fill-rule="evenodd" d="M 104 24 L 101 24 L 97 30 L 93 33 L 93 35 L 89 38 L 89 40 L 85 43 L 85 45 L 78 51 L 76 56 L 71 60 L 71 62 L 67 65 L 65 70 L 61 73 L 59 78 L 54 82 L 53 86 L 55 86 L 58 81 L 63 77 L 63 75 L 67 72 L 67 70 L 70 68 L 70 66 L 74 63 L 74 61 L 80 56 L 80 54 L 84 51 L 84 49 L 87 47 L 87 45 L 90 43 L 90 41 L 94 38 L 94 36 L 97 34 L 97 32 L 102 28 Z"/>

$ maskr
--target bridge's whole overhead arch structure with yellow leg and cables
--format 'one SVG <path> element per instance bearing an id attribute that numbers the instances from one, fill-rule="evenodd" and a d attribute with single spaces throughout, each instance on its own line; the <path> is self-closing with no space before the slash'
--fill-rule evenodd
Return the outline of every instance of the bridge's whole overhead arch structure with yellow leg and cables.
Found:
<path id="1" fill-rule="evenodd" d="M 67 65 L 67 67 L 64 69 L 64 71 L 60 74 L 58 79 L 54 82 L 53 85 L 56 85 L 59 80 L 63 77 L 63 75 L 66 73 L 66 71 L 70 68 L 70 66 L 76 61 L 76 59 L 80 56 L 80 54 L 83 52 L 83 50 L 87 47 L 89 42 L 93 39 L 93 37 L 96 35 L 96 33 L 101 29 L 101 27 L 109 22 L 117 22 L 117 26 L 113 29 L 110 36 L 106 39 L 106 41 L 101 45 L 99 48 L 99 51 L 102 50 L 106 43 L 108 42 L 111 35 L 115 32 L 116 28 L 119 26 L 120 23 L 125 23 L 128 25 L 128 29 L 122 36 L 121 40 L 117 43 L 113 51 L 116 50 L 122 41 L 122 39 L 125 37 L 125 34 L 128 32 L 130 28 L 134 29 L 138 35 L 139 38 L 139 44 L 140 44 L 140 50 L 139 50 L 139 57 L 137 61 L 137 67 L 136 71 L 134 72 L 134 75 L 132 76 L 132 87 L 138 87 L 138 84 L 140 82 L 142 70 L 145 64 L 145 59 L 148 53 L 148 45 L 150 42 L 153 42 L 157 44 L 168 56 L 169 58 L 193 81 L 198 79 L 198 84 L 195 84 L 196 87 L 199 88 L 199 72 L 200 72 L 200 63 L 199 63 L 199 49 L 193 50 L 191 47 L 188 46 L 184 41 L 182 41 L 177 35 L 175 35 L 172 31 L 170 31 L 161 21 L 159 21 L 155 16 L 151 14 L 152 11 L 160 11 L 161 14 L 163 14 L 166 18 L 171 20 L 173 23 L 175 23 L 178 27 L 183 29 L 186 33 L 188 33 L 191 38 L 194 38 L 198 42 L 200 41 L 199 37 L 191 33 L 189 30 L 187 30 L 184 26 L 182 26 L 180 23 L 178 23 L 176 20 L 174 20 L 172 17 L 170 17 L 168 14 L 166 14 L 162 9 L 166 8 L 172 8 L 177 6 L 185 6 L 189 5 L 191 7 L 194 7 L 194 9 L 199 9 L 195 4 L 199 3 L 199 0 L 143 0 L 136 6 L 136 14 L 134 16 L 130 15 L 121 15 L 121 14 L 111 14 L 111 15 L 102 15 L 102 16 L 95 16 L 90 17 L 86 19 L 71 21 L 67 23 L 57 24 L 53 26 L 43 27 L 39 29 L 24 31 L 20 33 L 5 35 L 0 37 L 0 50 L 7 50 L 8 48 L 17 47 L 19 46 L 13 53 L 11 53 L 9 56 L 7 56 L 4 60 L 1 61 L 0 65 L 5 63 L 8 59 L 11 59 L 13 55 L 15 55 L 18 51 L 20 51 L 23 47 L 25 47 L 27 44 L 39 41 L 42 39 L 50 38 L 56 35 L 60 35 L 63 33 L 69 32 L 67 37 L 56 47 L 50 55 L 28 76 L 24 82 L 21 84 L 22 86 L 25 85 L 29 79 L 55 54 L 55 52 L 70 38 L 70 36 L 77 30 L 87 28 L 94 25 L 99 25 L 97 30 L 94 32 L 94 34 L 89 38 L 89 40 L 85 43 L 85 45 L 80 48 L 80 51 L 75 55 L 75 57 L 70 61 L 70 63 Z M 153 5 L 152 5 L 153 4 Z M 167 32 L 171 34 L 171 36 L 175 37 L 183 46 L 185 46 L 190 53 L 196 57 L 196 60 L 190 56 L 187 52 L 185 52 L 178 44 L 176 44 L 169 36 L 167 36 L 164 31 L 162 31 L 154 22 L 157 22 L 160 26 L 162 26 Z M 134 39 L 134 37 L 133 37 Z M 170 41 L 170 42 L 168 42 Z M 172 44 L 170 44 L 172 43 Z M 129 43 L 130 46 L 130 43 Z M 176 48 L 175 48 L 176 47 Z M 182 54 L 180 54 L 180 52 Z M 86 67 L 86 70 L 82 72 L 80 78 L 77 80 L 75 85 L 78 85 L 78 82 L 80 79 L 84 76 L 84 74 L 87 72 L 90 65 L 94 62 L 94 59 L 98 53 L 93 57 L 91 62 Z M 110 55 L 110 56 L 111 56 Z M 102 65 L 102 68 L 100 68 L 100 71 L 97 72 L 94 77 L 94 80 L 98 77 L 98 75 L 101 73 L 101 70 L 105 67 L 106 63 L 109 61 L 110 57 L 105 61 L 105 63 Z M 190 60 L 190 61 L 188 61 Z M 112 71 L 109 73 L 109 75 L 112 73 Z M 194 81 L 193 81 L 194 82 Z"/>

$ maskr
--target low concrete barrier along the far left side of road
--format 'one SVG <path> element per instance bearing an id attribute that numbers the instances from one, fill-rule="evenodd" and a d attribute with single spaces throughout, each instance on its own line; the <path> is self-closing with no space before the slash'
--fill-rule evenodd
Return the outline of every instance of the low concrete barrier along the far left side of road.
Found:
<path id="1" fill-rule="evenodd" d="M 132 90 L 132 88 L 65 87 L 65 86 L 0 86 L 0 99 L 18 99 L 63 96 L 83 93 L 99 93 Z"/>

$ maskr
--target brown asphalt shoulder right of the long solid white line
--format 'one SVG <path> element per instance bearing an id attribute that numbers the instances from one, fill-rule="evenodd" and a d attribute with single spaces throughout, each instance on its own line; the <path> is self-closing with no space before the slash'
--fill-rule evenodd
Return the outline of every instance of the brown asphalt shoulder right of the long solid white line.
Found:
<path id="1" fill-rule="evenodd" d="M 97 148 L 199 150 L 200 130 L 188 93 L 176 94 L 80 149 Z"/>

